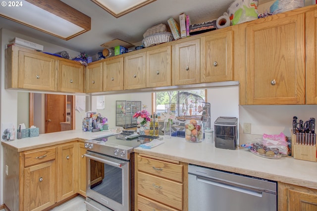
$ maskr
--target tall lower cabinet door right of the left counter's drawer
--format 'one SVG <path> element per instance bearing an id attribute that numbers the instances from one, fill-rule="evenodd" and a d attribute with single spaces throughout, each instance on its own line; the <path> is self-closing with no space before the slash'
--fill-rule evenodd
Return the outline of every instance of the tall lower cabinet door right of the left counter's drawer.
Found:
<path id="1" fill-rule="evenodd" d="M 77 193 L 77 143 L 57 147 L 57 201 Z"/>

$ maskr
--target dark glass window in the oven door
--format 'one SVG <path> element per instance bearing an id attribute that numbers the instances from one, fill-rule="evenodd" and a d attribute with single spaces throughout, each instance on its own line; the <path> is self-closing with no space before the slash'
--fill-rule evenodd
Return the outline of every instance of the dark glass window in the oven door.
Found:
<path id="1" fill-rule="evenodd" d="M 122 204 L 122 169 L 91 159 L 90 189 Z"/>

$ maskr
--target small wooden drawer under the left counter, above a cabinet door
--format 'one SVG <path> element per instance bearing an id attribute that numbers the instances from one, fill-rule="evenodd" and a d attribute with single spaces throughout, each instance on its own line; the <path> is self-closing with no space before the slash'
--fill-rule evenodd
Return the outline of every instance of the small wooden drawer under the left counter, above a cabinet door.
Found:
<path id="1" fill-rule="evenodd" d="M 55 160 L 56 147 L 24 153 L 24 167 Z"/>

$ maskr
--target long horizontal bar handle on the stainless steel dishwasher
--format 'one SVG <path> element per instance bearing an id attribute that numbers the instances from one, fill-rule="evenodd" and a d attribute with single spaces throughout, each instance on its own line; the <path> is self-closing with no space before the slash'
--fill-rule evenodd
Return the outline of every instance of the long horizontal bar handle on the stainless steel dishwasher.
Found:
<path id="1" fill-rule="evenodd" d="M 215 179 L 211 179 L 211 178 L 203 178 L 200 176 L 197 176 L 197 181 L 199 182 L 204 182 L 210 185 L 214 185 L 214 186 L 218 186 L 221 188 L 226 188 L 226 189 L 230 189 L 233 191 L 238 191 L 241 193 L 245 193 L 245 194 L 249 194 L 249 195 L 253 195 L 256 197 L 262 197 L 262 191 L 261 190 L 255 190 L 255 189 L 250 189 L 248 187 L 242 186 L 242 185 L 238 185 L 238 184 L 234 184 L 234 183 L 230 183 L 228 181 L 221 181 L 219 182 L 218 180 Z"/>

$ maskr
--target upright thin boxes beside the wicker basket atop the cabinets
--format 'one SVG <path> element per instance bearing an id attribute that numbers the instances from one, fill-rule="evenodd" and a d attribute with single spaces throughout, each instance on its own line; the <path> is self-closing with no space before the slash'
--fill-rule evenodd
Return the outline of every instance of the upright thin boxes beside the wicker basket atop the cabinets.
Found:
<path id="1" fill-rule="evenodd" d="M 179 23 L 175 21 L 174 18 L 169 18 L 167 20 L 170 31 L 173 34 L 174 40 L 178 40 L 181 38 L 189 37 L 189 26 L 191 25 L 191 21 L 189 15 L 185 13 L 181 13 L 179 15 Z"/>

